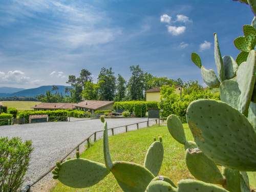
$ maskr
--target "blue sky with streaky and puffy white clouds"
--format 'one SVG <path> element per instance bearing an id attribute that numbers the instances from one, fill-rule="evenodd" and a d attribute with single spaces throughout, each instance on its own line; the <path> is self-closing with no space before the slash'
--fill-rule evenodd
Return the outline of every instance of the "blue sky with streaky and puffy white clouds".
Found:
<path id="1" fill-rule="evenodd" d="M 233 39 L 251 24 L 250 8 L 231 0 L 0 0 L 0 87 L 65 85 L 68 75 L 102 67 L 126 80 L 139 65 L 156 76 L 199 80 L 190 60 L 216 70 L 216 32 L 222 56 L 236 58 Z"/>

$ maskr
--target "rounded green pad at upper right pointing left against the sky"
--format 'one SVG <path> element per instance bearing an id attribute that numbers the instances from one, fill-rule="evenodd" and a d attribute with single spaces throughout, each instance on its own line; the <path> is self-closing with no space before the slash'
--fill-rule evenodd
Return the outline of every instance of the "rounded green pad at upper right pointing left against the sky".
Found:
<path id="1" fill-rule="evenodd" d="M 254 49 L 254 38 L 252 36 L 238 37 L 234 39 L 234 46 L 240 51 L 249 52 Z"/>

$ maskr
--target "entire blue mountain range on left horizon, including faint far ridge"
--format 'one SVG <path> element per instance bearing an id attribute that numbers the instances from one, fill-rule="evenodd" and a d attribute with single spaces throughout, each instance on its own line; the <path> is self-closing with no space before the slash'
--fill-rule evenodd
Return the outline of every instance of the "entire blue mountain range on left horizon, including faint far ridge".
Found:
<path id="1" fill-rule="evenodd" d="M 57 86 L 58 92 L 66 95 L 65 89 L 69 86 Z M 69 87 L 70 88 L 70 87 Z M 40 94 L 46 94 L 47 91 L 52 90 L 52 86 L 41 86 L 32 89 L 0 87 L 0 97 L 35 97 Z"/>

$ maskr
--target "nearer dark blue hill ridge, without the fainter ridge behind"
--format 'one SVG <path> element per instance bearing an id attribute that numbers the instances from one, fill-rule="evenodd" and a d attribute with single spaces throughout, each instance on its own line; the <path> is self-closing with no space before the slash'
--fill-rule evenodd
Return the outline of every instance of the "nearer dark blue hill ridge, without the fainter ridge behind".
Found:
<path id="1" fill-rule="evenodd" d="M 58 92 L 66 95 L 65 88 L 69 86 L 57 86 Z M 52 90 L 52 86 L 41 86 L 33 89 L 25 89 L 15 93 L 0 93 L 0 97 L 35 97 L 40 94 L 45 94 L 47 91 Z"/>

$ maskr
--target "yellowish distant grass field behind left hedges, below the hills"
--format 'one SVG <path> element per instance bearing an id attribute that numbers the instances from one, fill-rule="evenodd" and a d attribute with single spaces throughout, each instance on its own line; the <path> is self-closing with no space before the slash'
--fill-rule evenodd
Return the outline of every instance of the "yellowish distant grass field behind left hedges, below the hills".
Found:
<path id="1" fill-rule="evenodd" d="M 16 108 L 19 111 L 32 110 L 31 107 L 40 103 L 38 101 L 1 101 L 8 108 Z"/>

